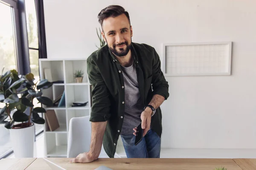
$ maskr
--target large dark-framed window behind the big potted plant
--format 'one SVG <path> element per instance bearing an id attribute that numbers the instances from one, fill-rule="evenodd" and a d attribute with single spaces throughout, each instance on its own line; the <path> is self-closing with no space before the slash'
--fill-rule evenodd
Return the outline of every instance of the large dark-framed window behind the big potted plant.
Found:
<path id="1" fill-rule="evenodd" d="M 36 13 L 36 6 L 38 15 Z M 0 0 L 0 74 L 16 69 L 19 74 L 31 72 L 39 80 L 38 59 L 46 58 L 44 12 L 41 0 Z M 38 36 L 37 16 L 40 20 Z M 39 38 L 38 38 L 39 37 Z M 41 41 L 42 43 L 38 42 Z M 43 49 L 43 54 L 40 50 Z M 33 101 L 35 107 L 40 107 Z M 0 104 L 0 108 L 3 105 Z M 35 124 L 35 133 L 44 125 Z M 0 124 L 0 159 L 12 152 L 9 130 Z"/>

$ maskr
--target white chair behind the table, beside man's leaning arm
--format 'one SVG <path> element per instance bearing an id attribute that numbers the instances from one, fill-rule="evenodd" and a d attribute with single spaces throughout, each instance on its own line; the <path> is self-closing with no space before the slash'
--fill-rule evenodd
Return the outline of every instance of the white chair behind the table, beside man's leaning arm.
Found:
<path id="1" fill-rule="evenodd" d="M 70 119 L 67 158 L 76 158 L 79 153 L 90 150 L 91 122 L 89 119 L 90 116 L 73 117 Z M 114 157 L 119 158 L 117 154 Z M 99 158 L 109 158 L 103 146 Z"/>

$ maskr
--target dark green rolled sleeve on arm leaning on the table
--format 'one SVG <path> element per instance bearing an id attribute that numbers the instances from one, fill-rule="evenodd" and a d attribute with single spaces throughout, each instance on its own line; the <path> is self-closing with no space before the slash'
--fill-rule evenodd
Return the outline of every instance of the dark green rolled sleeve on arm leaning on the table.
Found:
<path id="1" fill-rule="evenodd" d="M 110 93 L 100 74 L 99 68 L 91 60 L 87 59 L 87 74 L 92 85 L 92 108 L 90 114 L 91 122 L 105 122 L 110 114 L 111 102 L 109 99 Z"/>

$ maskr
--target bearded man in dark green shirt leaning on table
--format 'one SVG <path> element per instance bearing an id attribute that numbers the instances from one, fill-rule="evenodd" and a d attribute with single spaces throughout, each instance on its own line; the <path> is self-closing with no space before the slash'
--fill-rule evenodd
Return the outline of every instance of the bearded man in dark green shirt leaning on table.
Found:
<path id="1" fill-rule="evenodd" d="M 87 59 L 93 86 L 90 151 L 70 161 L 98 159 L 102 141 L 108 156 L 113 157 L 119 135 L 128 158 L 159 158 L 162 133 L 159 106 L 169 96 L 159 56 L 151 46 L 131 42 L 129 14 L 121 6 L 102 9 L 98 19 L 107 45 Z M 140 123 L 144 137 L 135 146 L 134 127 Z"/>

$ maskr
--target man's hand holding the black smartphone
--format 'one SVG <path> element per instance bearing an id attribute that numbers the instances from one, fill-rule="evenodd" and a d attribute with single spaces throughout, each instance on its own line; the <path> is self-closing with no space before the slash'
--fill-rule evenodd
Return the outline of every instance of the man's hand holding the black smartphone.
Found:
<path id="1" fill-rule="evenodd" d="M 141 113 L 140 115 L 140 119 L 141 119 L 141 128 L 144 129 L 143 132 L 143 136 L 145 136 L 145 134 L 148 132 L 148 130 L 150 129 L 150 123 L 151 123 L 151 113 L 152 110 L 151 108 L 145 108 L 145 110 Z M 136 132 L 137 132 L 137 127 L 135 127 L 134 129 L 134 135 L 136 136 Z"/>

